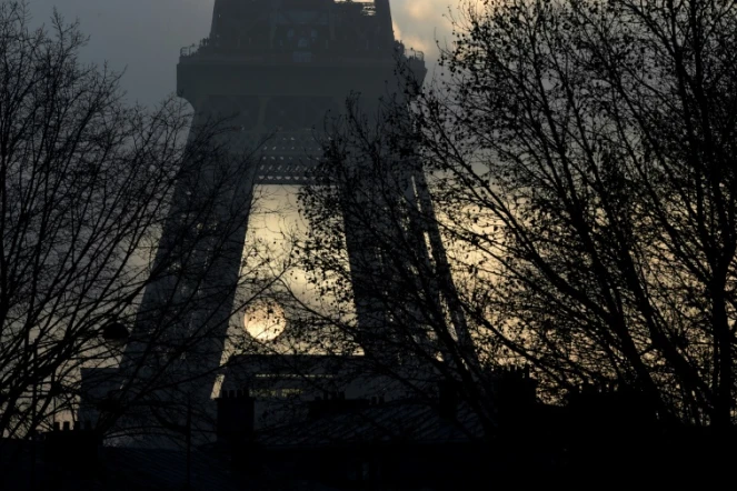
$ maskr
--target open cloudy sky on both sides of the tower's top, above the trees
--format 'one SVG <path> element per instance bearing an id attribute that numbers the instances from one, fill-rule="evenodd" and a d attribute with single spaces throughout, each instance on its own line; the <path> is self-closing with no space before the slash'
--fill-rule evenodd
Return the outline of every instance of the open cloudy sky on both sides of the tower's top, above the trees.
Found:
<path id="1" fill-rule="evenodd" d="M 430 60 L 434 39 L 450 32 L 448 6 L 459 0 L 392 0 L 395 34 Z M 29 0 L 34 23 L 48 22 L 56 6 L 79 19 L 91 37 L 86 58 L 126 69 L 123 88 L 133 100 L 155 103 L 176 90 L 179 49 L 209 34 L 215 0 Z"/>

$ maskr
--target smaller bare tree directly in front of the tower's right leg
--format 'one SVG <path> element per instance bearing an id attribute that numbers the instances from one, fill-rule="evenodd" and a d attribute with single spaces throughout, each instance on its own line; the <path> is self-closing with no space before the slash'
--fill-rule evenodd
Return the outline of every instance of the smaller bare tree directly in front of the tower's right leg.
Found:
<path id="1" fill-rule="evenodd" d="M 436 233 L 420 134 L 411 102 L 400 101 L 416 93 L 407 77 L 409 92 L 388 97 L 378 111 L 356 97 L 327 121 L 323 158 L 300 194 L 309 229 L 299 258 L 318 291 L 318 301 L 301 304 L 302 341 L 317 352 L 359 354 L 353 377 L 376 375 L 431 404 L 450 384 L 490 434 L 498 343 L 468 324 Z M 349 260 L 350 248 L 361 252 Z"/>

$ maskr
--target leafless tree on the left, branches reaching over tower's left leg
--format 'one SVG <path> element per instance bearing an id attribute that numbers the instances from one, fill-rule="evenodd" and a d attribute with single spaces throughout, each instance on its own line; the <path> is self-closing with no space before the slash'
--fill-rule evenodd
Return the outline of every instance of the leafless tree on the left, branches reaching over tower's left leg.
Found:
<path id="1" fill-rule="evenodd" d="M 176 98 L 128 106 L 119 74 L 79 61 L 86 42 L 58 13 L 31 30 L 26 4 L 0 4 L 3 437 L 78 418 L 82 370 L 97 373 L 86 391 L 117 390 L 96 408 L 108 430 L 215 377 L 172 367 L 222 349 L 228 299 L 248 277 L 216 281 L 242 254 L 248 151 L 227 148 L 227 121 L 192 121 Z"/>

